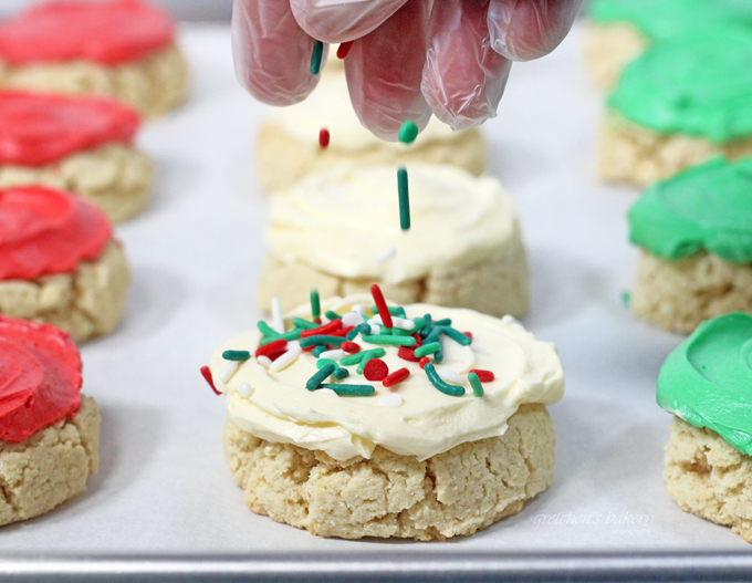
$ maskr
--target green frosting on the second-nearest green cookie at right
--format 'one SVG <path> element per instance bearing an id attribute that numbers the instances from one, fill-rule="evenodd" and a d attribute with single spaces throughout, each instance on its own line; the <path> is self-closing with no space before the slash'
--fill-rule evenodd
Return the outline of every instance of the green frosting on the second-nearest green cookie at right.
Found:
<path id="1" fill-rule="evenodd" d="M 752 158 L 712 159 L 657 183 L 629 209 L 629 239 L 678 260 L 706 250 L 752 263 Z"/>

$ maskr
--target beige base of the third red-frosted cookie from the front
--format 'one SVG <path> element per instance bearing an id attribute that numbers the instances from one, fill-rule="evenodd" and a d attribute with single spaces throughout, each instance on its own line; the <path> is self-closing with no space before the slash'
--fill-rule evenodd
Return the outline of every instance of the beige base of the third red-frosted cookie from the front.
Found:
<path id="1" fill-rule="evenodd" d="M 79 152 L 40 168 L 0 166 L 0 188 L 41 184 L 69 190 L 95 202 L 113 222 L 144 210 L 153 178 L 149 157 L 122 144 Z"/>

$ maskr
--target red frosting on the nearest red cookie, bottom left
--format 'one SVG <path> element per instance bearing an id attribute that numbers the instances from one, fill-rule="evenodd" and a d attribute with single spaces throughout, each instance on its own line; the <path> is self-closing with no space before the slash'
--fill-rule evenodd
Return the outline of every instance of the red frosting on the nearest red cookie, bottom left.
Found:
<path id="1" fill-rule="evenodd" d="M 81 406 L 81 357 L 65 332 L 0 315 L 0 440 L 23 441 Z"/>

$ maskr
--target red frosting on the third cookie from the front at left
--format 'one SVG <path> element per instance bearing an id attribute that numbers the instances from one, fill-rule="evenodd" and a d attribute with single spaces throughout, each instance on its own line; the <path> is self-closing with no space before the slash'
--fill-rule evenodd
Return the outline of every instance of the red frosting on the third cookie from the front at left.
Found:
<path id="1" fill-rule="evenodd" d="M 0 164 L 44 166 L 102 144 L 132 144 L 140 125 L 125 105 L 98 97 L 0 92 Z"/>

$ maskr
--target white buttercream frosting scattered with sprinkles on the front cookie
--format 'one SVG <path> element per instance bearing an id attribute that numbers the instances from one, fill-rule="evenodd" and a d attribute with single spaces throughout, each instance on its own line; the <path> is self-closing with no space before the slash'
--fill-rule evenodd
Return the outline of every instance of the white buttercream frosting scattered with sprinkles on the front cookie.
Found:
<path id="1" fill-rule="evenodd" d="M 372 303 L 369 295 L 353 295 L 332 299 L 322 308 L 344 314 L 354 305 Z M 449 317 L 457 330 L 472 333 L 468 346 L 446 340 L 443 360 L 436 364 L 440 376 L 449 376 L 447 372 L 451 371 L 464 378 L 464 396 L 439 392 L 418 363 L 400 358 L 396 347 L 386 347 L 382 360 L 391 372 L 408 367 L 410 376 L 404 382 L 386 388 L 354 369 L 342 381 L 372 385 L 373 396 L 341 397 L 331 389 L 307 391 L 306 381 L 317 371 L 317 358 L 311 352 L 304 352 L 281 372 L 271 372 L 251 356 L 227 378 L 223 352 L 249 351 L 252 355 L 261 334 L 251 331 L 224 343 L 210 360 L 216 387 L 227 395 L 230 420 L 257 437 L 323 450 L 338 460 L 369 458 L 376 446 L 422 460 L 466 441 L 503 435 L 509 418 L 523 404 L 551 405 L 562 398 L 564 375 L 555 346 L 535 340 L 513 317 L 499 320 L 471 310 L 428 304 L 405 310 L 408 319 L 430 313 L 435 321 Z M 292 316 L 311 317 L 310 309 L 301 308 Z M 364 350 L 375 347 L 361 336 L 356 342 Z M 482 397 L 476 397 L 467 382 L 468 373 L 479 368 L 495 375 L 483 384 Z"/>

